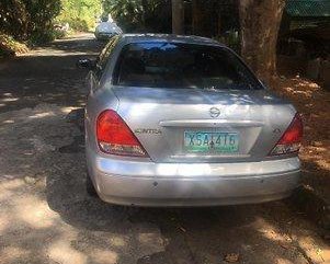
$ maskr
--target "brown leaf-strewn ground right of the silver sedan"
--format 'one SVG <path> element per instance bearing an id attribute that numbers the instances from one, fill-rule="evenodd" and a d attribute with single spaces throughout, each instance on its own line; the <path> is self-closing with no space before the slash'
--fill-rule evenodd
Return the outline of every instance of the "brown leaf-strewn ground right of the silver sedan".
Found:
<path id="1" fill-rule="evenodd" d="M 330 92 L 297 77 L 282 78 L 277 84 L 277 91 L 289 97 L 303 115 L 303 182 L 330 205 Z"/>

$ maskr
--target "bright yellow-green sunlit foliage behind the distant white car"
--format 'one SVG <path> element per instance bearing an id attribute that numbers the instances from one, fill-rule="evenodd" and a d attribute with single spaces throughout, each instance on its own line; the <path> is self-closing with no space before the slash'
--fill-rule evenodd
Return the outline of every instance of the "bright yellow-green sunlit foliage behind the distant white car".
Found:
<path id="1" fill-rule="evenodd" d="M 88 31 L 95 26 L 102 11 L 101 0 L 61 0 L 60 23 L 68 23 L 76 31 Z"/>

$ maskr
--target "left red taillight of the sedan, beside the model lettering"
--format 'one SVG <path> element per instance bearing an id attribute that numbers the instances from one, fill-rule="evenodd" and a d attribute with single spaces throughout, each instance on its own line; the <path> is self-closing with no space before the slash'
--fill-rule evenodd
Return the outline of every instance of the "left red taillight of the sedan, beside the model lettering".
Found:
<path id="1" fill-rule="evenodd" d="M 110 154 L 148 157 L 138 139 L 113 110 L 102 112 L 96 122 L 100 149 Z"/>

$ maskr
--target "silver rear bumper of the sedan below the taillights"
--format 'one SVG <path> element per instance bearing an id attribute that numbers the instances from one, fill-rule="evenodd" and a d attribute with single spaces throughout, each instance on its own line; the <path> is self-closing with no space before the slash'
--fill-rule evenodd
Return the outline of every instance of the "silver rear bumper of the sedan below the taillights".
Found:
<path id="1" fill-rule="evenodd" d="M 212 206 L 263 203 L 299 184 L 298 158 L 249 163 L 153 163 L 115 160 L 87 151 L 99 196 L 137 206 Z"/>

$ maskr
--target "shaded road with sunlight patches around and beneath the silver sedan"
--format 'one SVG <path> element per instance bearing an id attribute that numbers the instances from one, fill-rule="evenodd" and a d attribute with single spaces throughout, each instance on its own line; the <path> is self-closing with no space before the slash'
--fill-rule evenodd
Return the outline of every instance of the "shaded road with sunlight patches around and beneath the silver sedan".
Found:
<path id="1" fill-rule="evenodd" d="M 101 46 L 84 35 L 0 61 L 1 264 L 330 263 L 319 230 L 289 199 L 148 209 L 89 197 L 86 72 L 75 64 Z"/>

